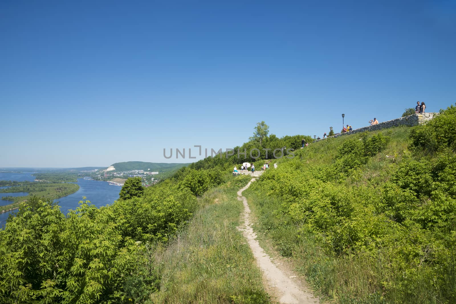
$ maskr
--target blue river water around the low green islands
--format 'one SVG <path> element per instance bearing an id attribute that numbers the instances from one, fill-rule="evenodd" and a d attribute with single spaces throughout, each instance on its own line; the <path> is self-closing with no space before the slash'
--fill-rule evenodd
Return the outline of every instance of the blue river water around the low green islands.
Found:
<path id="1" fill-rule="evenodd" d="M 33 172 L 0 172 L 0 180 L 33 181 L 35 178 L 31 176 L 31 174 L 33 174 Z M 74 210 L 78 208 L 78 203 L 83 199 L 83 196 L 85 196 L 87 200 L 89 200 L 97 207 L 113 203 L 116 199 L 119 198 L 119 192 L 121 187 L 109 185 L 108 182 L 78 178 L 78 182 L 76 183 L 79 185 L 78 191 L 76 191 L 73 194 L 67 195 L 63 198 L 55 200 L 60 205 L 60 210 L 62 210 L 63 213 L 67 213 L 69 209 Z M 0 198 L 6 195 L 5 193 L 0 193 Z M 0 213 L 0 228 L 2 228 L 5 225 L 8 215 L 14 212 L 15 211 L 13 210 L 11 212 Z"/>

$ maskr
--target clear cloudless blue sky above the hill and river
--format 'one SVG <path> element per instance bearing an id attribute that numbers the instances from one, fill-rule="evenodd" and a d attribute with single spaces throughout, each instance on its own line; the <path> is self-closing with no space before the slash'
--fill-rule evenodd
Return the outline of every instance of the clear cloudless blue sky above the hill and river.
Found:
<path id="1" fill-rule="evenodd" d="M 456 1 L 304 2 L 1 1 L 0 167 L 188 162 L 163 148 L 456 102 Z"/>

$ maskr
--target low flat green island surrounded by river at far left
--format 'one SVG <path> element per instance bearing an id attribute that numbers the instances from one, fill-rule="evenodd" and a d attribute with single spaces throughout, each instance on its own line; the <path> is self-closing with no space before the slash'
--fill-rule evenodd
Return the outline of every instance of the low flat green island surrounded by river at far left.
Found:
<path id="1" fill-rule="evenodd" d="M 0 206 L 0 212 L 19 208 L 19 203 L 29 200 L 33 196 L 43 198 L 44 200 L 52 201 L 57 198 L 62 198 L 71 193 L 78 191 L 79 185 L 63 182 L 20 182 L 18 186 L 0 189 L 1 193 L 17 193 L 27 192 L 27 196 L 5 196 L 2 199 L 12 201 L 9 205 Z"/>

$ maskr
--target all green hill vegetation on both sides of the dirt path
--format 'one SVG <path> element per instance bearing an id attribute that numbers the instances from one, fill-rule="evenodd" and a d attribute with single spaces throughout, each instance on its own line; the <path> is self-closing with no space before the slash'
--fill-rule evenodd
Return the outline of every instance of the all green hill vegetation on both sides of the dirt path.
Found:
<path id="1" fill-rule="evenodd" d="M 232 175 L 269 162 L 243 193 L 253 229 L 321 302 L 456 303 L 456 107 L 417 127 L 302 138 L 261 122 L 241 149 L 295 151 L 207 157 L 147 188 L 129 178 L 115 203 L 67 215 L 20 203 L 0 230 L 0 302 L 277 303 L 238 230 L 252 177 Z"/>

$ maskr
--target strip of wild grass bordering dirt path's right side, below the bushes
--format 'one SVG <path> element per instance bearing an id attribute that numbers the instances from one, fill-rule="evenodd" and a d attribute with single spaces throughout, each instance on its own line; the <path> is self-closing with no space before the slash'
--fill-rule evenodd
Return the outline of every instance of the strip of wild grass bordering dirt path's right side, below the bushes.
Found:
<path id="1" fill-rule="evenodd" d="M 243 193 L 249 201 L 252 214 L 258 218 L 254 228 L 264 238 L 270 239 L 275 249 L 291 258 L 295 270 L 306 277 L 306 281 L 321 300 L 341 304 L 386 304 L 386 303 L 450 303 L 441 302 L 433 286 L 434 278 L 430 267 L 423 265 L 415 274 L 415 285 L 409 290 L 388 289 L 385 285 L 400 284 L 407 273 L 391 272 L 389 248 L 379 248 L 378 258 L 368 253 L 337 256 L 318 245 L 311 233 L 306 233 L 300 224 L 280 212 L 278 198 L 264 197 L 253 191 Z M 263 238 L 259 238 L 262 243 Z M 454 258 L 454 257 L 453 257 Z M 455 264 L 454 261 L 452 263 Z M 456 290 L 454 269 L 447 272 L 446 293 Z"/>

